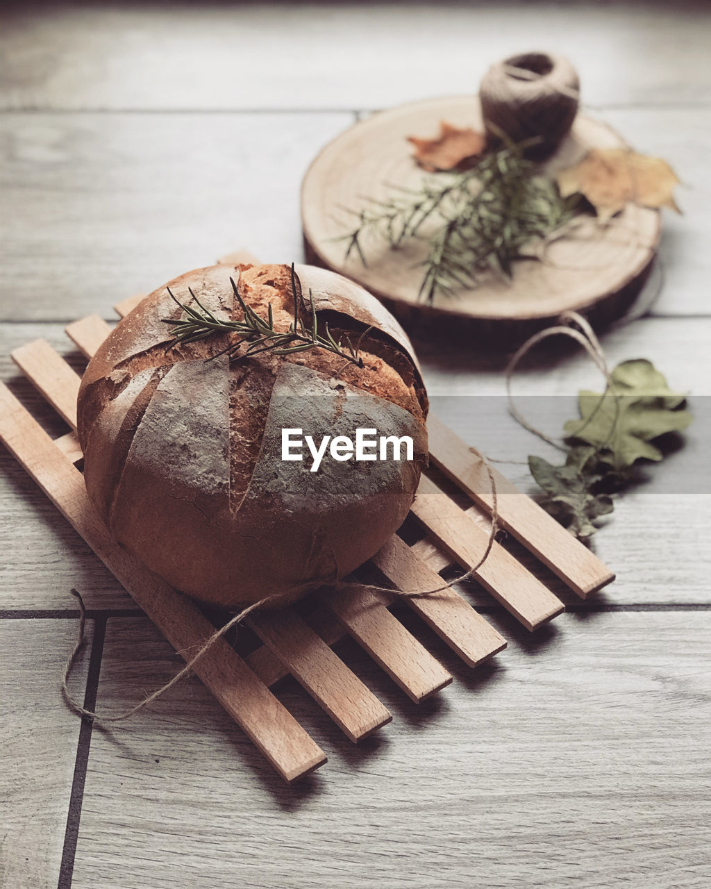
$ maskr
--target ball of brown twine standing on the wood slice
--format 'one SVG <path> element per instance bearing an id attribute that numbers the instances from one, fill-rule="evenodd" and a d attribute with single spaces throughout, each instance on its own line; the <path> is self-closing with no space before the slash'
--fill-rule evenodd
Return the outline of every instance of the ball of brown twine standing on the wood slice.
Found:
<path id="1" fill-rule="evenodd" d="M 520 142 L 539 139 L 530 157 L 552 154 L 578 113 L 579 79 L 563 56 L 524 52 L 492 65 L 479 90 L 490 140 L 501 134 Z"/>

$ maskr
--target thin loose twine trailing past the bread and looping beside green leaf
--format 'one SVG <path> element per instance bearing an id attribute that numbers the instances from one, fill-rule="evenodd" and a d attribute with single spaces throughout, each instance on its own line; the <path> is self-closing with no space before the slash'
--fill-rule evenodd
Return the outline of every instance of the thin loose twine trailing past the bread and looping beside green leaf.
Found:
<path id="1" fill-rule="evenodd" d="M 507 402 L 508 409 L 512 417 L 516 420 L 516 422 L 523 426 L 523 428 L 526 428 L 531 433 L 533 433 L 533 435 L 539 436 L 539 438 L 542 438 L 543 441 L 546 441 L 548 444 L 554 445 L 554 447 L 558 448 L 561 448 L 562 445 L 560 445 L 550 436 L 547 436 L 547 434 L 541 429 L 536 428 L 531 423 L 529 423 L 528 420 L 526 420 L 523 416 L 523 413 L 516 407 L 514 396 L 511 390 L 511 380 L 518 364 L 521 363 L 523 357 L 526 356 L 532 348 L 535 348 L 539 344 L 539 342 L 547 339 L 548 337 L 560 335 L 570 337 L 572 340 L 578 342 L 586 350 L 587 355 L 590 356 L 590 358 L 595 363 L 595 366 L 603 374 L 608 387 L 611 387 L 611 374 L 605 360 L 603 348 L 600 345 L 599 340 L 595 336 L 595 332 L 593 331 L 590 324 L 587 322 L 586 318 L 579 315 L 577 312 L 564 312 L 563 315 L 558 318 L 558 324 L 555 324 L 555 326 L 549 327 L 544 331 L 540 331 L 539 333 L 534 334 L 529 340 L 526 340 L 526 342 L 523 343 L 523 346 L 519 348 L 511 357 L 506 369 Z M 601 396 L 601 404 L 603 397 L 604 396 Z M 491 491 L 491 526 L 489 528 L 486 547 L 484 548 L 483 554 L 479 558 L 478 562 L 471 568 L 469 568 L 468 571 L 459 574 L 451 581 L 443 582 L 441 586 L 438 586 L 435 589 L 427 589 L 424 591 L 407 591 L 400 589 L 391 589 L 389 587 L 380 587 L 377 584 L 372 583 L 339 581 L 335 584 L 332 584 L 332 589 L 334 591 L 344 589 L 368 589 L 374 594 L 385 595 L 387 597 L 395 597 L 395 599 L 420 598 L 435 596 L 438 593 L 442 593 L 446 590 L 451 589 L 455 584 L 461 583 L 462 581 L 468 581 L 475 576 L 475 574 L 479 571 L 479 569 L 482 567 L 484 562 L 486 562 L 487 558 L 491 554 L 491 549 L 493 549 L 497 533 L 499 533 L 499 498 L 497 493 L 496 479 L 491 469 L 490 460 L 487 459 L 484 454 L 478 451 L 475 447 L 471 447 L 469 448 L 469 450 L 476 458 L 482 461 L 483 467 L 484 469 L 486 469 L 487 477 L 489 478 Z M 93 725 L 108 725 L 111 723 L 123 722 L 125 719 L 129 719 L 134 714 L 138 713 L 139 710 L 143 709 L 144 707 L 148 707 L 149 704 L 153 703 L 162 695 L 164 695 L 164 693 L 172 689 L 173 685 L 177 685 L 181 679 L 188 676 L 188 674 L 195 667 L 197 661 L 200 661 L 201 658 L 203 658 L 204 655 L 212 649 L 212 646 L 215 645 L 220 638 L 224 637 L 230 629 L 233 629 L 233 627 L 236 627 L 241 621 L 244 621 L 244 619 L 248 617 L 252 612 L 257 611 L 264 605 L 273 603 L 274 600 L 277 598 L 277 596 L 269 596 L 260 599 L 259 602 L 255 602 L 252 605 L 247 605 L 241 611 L 234 614 L 227 621 L 227 623 L 223 624 L 220 627 L 220 629 L 216 629 L 215 632 L 212 633 L 212 636 L 207 637 L 207 639 L 204 640 L 203 644 L 200 645 L 197 652 L 186 663 L 185 667 L 180 669 L 169 682 L 156 689 L 155 692 L 149 694 L 148 697 L 144 698 L 142 701 L 139 701 L 137 704 L 125 710 L 123 713 L 120 713 L 116 716 L 104 716 L 102 714 L 96 713 L 93 710 L 85 708 L 82 704 L 79 703 L 79 701 L 76 701 L 76 698 L 69 691 L 69 678 L 71 677 L 71 673 L 76 665 L 79 654 L 84 649 L 86 629 L 86 608 L 84 606 L 84 599 L 76 589 L 72 589 L 71 593 L 74 597 L 76 597 L 76 600 L 79 603 L 79 627 L 76 637 L 76 645 L 74 646 L 72 653 L 68 657 L 67 666 L 65 667 L 64 675 L 62 677 L 61 693 L 69 709 L 72 709 L 81 717 L 91 719 Z"/>

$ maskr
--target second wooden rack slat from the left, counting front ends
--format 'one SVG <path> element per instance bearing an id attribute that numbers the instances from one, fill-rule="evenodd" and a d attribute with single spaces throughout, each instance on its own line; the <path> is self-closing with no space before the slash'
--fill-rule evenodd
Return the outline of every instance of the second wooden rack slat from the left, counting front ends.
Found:
<path id="1" fill-rule="evenodd" d="M 292 608 L 255 614 L 247 622 L 350 741 L 391 721 L 387 708 Z"/>

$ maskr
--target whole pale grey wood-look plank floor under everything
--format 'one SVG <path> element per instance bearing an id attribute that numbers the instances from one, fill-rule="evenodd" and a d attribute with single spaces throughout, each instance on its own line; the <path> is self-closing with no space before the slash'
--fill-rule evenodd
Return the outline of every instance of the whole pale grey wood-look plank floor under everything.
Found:
<path id="1" fill-rule="evenodd" d="M 326 140 L 372 109 L 473 90 L 491 61 L 527 48 L 570 55 L 590 112 L 683 179 L 657 299 L 603 346 L 611 361 L 651 358 L 691 391 L 697 420 L 598 533 L 611 588 L 584 606 L 566 597 L 572 612 L 533 637 L 472 590 L 511 640 L 494 664 L 463 668 L 403 616 L 455 675 L 418 709 L 341 645 L 395 717 L 357 748 L 286 681 L 280 697 L 330 755 L 290 788 L 196 680 L 111 733 L 63 709 L 72 586 L 95 625 L 80 698 L 88 676 L 87 700 L 98 689 L 100 709 L 120 709 L 178 660 L 0 453 L 2 889 L 709 884 L 710 12 L 5 4 L 0 378 L 52 434 L 66 428 L 14 371 L 12 348 L 44 337 L 78 369 L 62 332 L 77 316 L 111 318 L 129 293 L 236 246 L 300 258 L 300 177 Z M 435 409 L 472 444 L 515 461 L 547 453 L 509 425 L 504 358 L 421 343 L 419 354 Z M 598 382 L 558 350 L 516 389 L 557 423 Z"/>

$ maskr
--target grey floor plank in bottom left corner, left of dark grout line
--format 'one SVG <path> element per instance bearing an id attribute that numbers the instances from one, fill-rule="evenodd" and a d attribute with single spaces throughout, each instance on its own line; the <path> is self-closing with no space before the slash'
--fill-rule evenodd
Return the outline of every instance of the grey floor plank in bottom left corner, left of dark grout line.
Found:
<path id="1" fill-rule="evenodd" d="M 92 647 L 93 622 L 87 625 Z M 75 621 L 0 621 L 0 885 L 57 885 L 71 872 L 91 731 L 64 706 L 60 670 L 76 639 Z M 84 701 L 87 657 L 72 691 Z M 99 661 L 86 704 L 93 706 Z"/>

